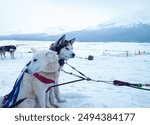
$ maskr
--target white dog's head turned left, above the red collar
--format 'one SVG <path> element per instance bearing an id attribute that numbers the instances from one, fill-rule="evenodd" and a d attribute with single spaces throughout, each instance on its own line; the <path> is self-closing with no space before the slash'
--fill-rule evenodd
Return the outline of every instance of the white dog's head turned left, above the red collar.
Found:
<path id="1" fill-rule="evenodd" d="M 27 72 L 34 74 L 37 72 L 52 73 L 58 71 L 58 55 L 51 50 L 37 51 L 32 48 L 33 58 L 27 67 Z"/>

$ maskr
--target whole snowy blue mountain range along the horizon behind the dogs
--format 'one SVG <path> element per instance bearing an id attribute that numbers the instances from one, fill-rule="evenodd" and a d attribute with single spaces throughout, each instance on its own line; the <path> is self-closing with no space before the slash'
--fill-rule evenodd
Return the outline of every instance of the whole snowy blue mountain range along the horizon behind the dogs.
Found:
<path id="1" fill-rule="evenodd" d="M 129 21 L 130 22 L 130 21 Z M 48 31 L 48 32 L 47 32 Z M 57 30 L 56 30 L 57 31 Z M 76 30 L 67 32 L 62 30 L 50 34 L 50 30 L 42 31 L 40 33 L 32 34 L 9 34 L 1 35 L 0 40 L 57 40 L 61 35 L 66 34 L 68 38 L 76 38 L 77 41 L 104 41 L 104 42 L 150 42 L 150 23 L 136 22 L 136 23 L 116 23 L 106 22 L 100 25 L 88 27 L 83 30 Z"/>

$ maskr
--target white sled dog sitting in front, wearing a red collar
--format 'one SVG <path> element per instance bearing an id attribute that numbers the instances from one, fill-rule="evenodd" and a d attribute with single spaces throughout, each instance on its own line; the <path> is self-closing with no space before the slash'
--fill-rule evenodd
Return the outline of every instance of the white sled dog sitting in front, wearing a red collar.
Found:
<path id="1" fill-rule="evenodd" d="M 24 73 L 22 78 L 17 101 L 26 99 L 16 107 L 46 108 L 50 105 L 58 107 L 54 104 L 53 88 L 50 88 L 58 78 L 58 55 L 51 50 L 36 51 L 32 49 L 32 52 L 33 58 L 26 68 L 27 73 Z M 50 92 L 47 95 L 48 90 Z M 0 99 L 0 107 L 4 101 L 4 97 Z"/>

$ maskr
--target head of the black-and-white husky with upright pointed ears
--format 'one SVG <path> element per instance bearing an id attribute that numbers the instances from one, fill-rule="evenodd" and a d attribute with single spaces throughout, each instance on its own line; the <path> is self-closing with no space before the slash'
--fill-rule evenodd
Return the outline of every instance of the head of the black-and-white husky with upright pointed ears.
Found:
<path id="1" fill-rule="evenodd" d="M 72 46 L 74 41 L 75 38 L 66 40 L 66 36 L 63 35 L 57 42 L 51 44 L 50 49 L 57 52 L 59 59 L 68 60 L 75 57 Z"/>

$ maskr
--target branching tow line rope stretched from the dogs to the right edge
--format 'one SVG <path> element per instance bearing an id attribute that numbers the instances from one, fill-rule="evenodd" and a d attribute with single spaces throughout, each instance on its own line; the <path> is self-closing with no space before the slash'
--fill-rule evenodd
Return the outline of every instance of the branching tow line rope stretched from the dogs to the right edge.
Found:
<path id="1" fill-rule="evenodd" d="M 70 83 L 86 80 L 86 81 L 93 81 L 93 82 L 101 82 L 101 83 L 112 84 L 112 85 L 115 85 L 115 86 L 127 86 L 127 87 L 136 88 L 136 89 L 140 89 L 140 90 L 150 91 L 150 89 L 148 89 L 148 88 L 143 88 L 143 87 L 150 87 L 150 84 L 141 84 L 141 83 L 140 84 L 134 84 L 134 83 L 124 82 L 124 81 L 120 81 L 120 80 L 113 80 L 113 81 L 95 80 L 95 79 L 91 79 L 90 77 L 86 76 L 85 74 L 83 74 L 82 72 L 80 72 L 75 67 L 73 67 L 70 64 L 68 64 L 67 62 L 66 62 L 66 64 L 69 67 L 71 67 L 73 70 L 78 72 L 80 75 L 74 74 L 72 72 L 67 72 L 64 69 L 60 69 L 60 71 L 66 73 L 66 74 L 78 77 L 80 79 L 69 81 L 69 82 L 65 82 L 65 83 L 61 83 L 61 84 L 57 84 L 57 85 L 54 85 L 52 87 L 62 86 L 62 85 L 66 85 L 66 84 L 70 84 Z"/>

